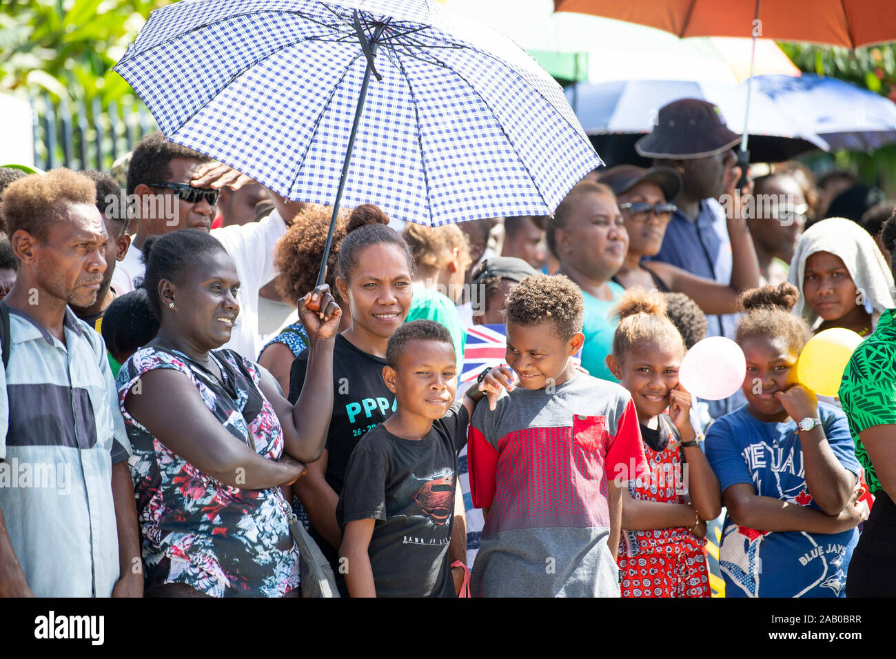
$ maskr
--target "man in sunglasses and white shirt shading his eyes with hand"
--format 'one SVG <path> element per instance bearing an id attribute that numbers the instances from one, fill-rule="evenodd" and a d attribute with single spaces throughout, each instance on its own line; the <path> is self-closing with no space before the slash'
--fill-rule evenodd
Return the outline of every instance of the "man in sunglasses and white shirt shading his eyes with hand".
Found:
<path id="1" fill-rule="evenodd" d="M 211 169 L 219 171 L 219 167 L 221 172 L 228 173 L 227 180 L 203 176 Z M 142 278 L 146 270 L 142 263 L 146 238 L 185 229 L 211 230 L 220 195 L 218 183 L 238 187 L 233 173 L 234 170 L 220 166 L 202 153 L 166 141 L 160 133 L 147 135 L 137 144 L 127 170 L 127 194 L 136 195 L 139 200 L 138 216 L 131 227 L 136 233 L 113 275 L 112 283 L 119 294 L 134 290 L 135 280 Z M 276 275 L 273 248 L 286 233 L 280 211 L 288 212 L 287 204 L 280 199 L 272 201 L 277 210 L 261 221 L 211 230 L 211 235 L 220 240 L 237 265 L 240 281 L 239 317 L 224 347 L 249 360 L 254 360 L 261 348 L 258 290 Z M 291 218 L 297 209 L 293 207 L 295 204 L 289 205 Z"/>

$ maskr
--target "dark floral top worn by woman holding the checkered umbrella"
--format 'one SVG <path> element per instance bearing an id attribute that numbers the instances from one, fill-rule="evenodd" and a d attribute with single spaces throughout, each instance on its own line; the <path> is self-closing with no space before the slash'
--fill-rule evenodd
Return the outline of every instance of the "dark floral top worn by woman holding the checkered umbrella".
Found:
<path id="1" fill-rule="evenodd" d="M 206 384 L 208 376 L 177 351 L 142 348 L 118 374 L 118 400 L 134 449 L 128 465 L 142 530 L 144 585 L 151 590 L 186 584 L 214 597 L 281 597 L 299 584 L 299 557 L 289 533 L 289 504 L 280 489 L 225 485 L 170 451 L 125 410 L 125 395 L 143 374 L 175 369 L 190 378 L 202 402 L 235 438 L 252 446 L 251 437 L 259 455 L 279 459 L 283 431 L 258 389 L 256 365 L 234 351 L 212 355 L 232 377 L 236 400 L 223 389 L 216 393 Z M 261 409 L 247 423 L 246 403 L 258 396 Z"/>

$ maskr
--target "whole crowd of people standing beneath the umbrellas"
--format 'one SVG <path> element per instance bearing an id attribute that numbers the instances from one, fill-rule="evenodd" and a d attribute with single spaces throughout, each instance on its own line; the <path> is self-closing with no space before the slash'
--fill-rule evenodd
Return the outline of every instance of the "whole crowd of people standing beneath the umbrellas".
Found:
<path id="1" fill-rule="evenodd" d="M 371 199 L 319 286 L 332 208 L 161 134 L 123 183 L 0 169 L 0 594 L 297 597 L 305 532 L 350 596 L 708 597 L 708 540 L 728 597 L 896 594 L 896 202 L 738 140 L 679 100 L 549 217 Z M 701 401 L 711 336 L 746 374 Z"/>

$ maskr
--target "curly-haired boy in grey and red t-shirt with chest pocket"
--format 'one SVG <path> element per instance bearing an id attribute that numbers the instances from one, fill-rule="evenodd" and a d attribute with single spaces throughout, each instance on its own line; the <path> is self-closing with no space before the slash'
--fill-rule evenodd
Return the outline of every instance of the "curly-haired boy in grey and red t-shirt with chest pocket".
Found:
<path id="1" fill-rule="evenodd" d="M 483 508 L 474 595 L 619 596 L 620 481 L 648 473 L 632 397 L 570 358 L 582 347 L 582 293 L 531 276 L 507 295 L 510 392 L 470 421 L 470 490 Z M 616 479 L 616 485 L 612 482 Z"/>

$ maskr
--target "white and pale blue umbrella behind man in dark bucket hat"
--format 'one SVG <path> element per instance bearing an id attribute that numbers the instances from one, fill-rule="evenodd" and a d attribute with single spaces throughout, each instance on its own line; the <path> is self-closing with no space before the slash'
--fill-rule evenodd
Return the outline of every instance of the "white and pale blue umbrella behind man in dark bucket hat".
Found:
<path id="1" fill-rule="evenodd" d="M 578 84 L 575 91 L 572 87 L 566 88 L 568 97 L 572 98 L 573 93 L 579 121 L 590 135 L 650 133 L 659 108 L 679 99 L 708 100 L 719 107 L 731 130 L 737 133 L 744 130 L 746 88 L 743 85 L 669 80 L 617 81 Z M 749 134 L 754 144 L 751 152 L 754 161 L 786 160 L 801 152 L 827 148 L 823 139 L 806 130 L 796 118 L 783 114 L 762 94 L 754 95 Z M 768 139 L 755 143 L 754 138 L 759 136 Z"/>

